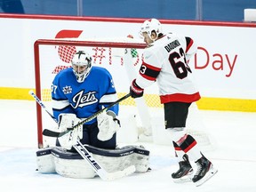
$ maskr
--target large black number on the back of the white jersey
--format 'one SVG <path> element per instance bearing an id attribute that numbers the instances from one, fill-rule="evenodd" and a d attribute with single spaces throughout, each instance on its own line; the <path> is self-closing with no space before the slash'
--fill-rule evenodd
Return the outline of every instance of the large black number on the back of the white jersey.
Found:
<path id="1" fill-rule="evenodd" d="M 183 57 L 184 62 L 180 60 L 181 57 Z M 169 61 L 175 76 L 178 78 L 183 79 L 188 76 L 188 72 L 192 73 L 191 69 L 188 67 L 185 52 L 182 48 L 180 48 L 180 52 L 172 52 L 169 55 Z"/>

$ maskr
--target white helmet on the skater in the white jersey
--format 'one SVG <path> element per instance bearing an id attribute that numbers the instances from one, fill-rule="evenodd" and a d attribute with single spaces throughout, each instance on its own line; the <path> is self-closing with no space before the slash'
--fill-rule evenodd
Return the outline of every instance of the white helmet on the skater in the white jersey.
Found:
<path id="1" fill-rule="evenodd" d="M 143 32 L 147 32 L 148 36 L 150 37 L 152 31 L 156 32 L 156 36 L 163 33 L 162 25 L 159 22 L 159 20 L 156 20 L 156 19 L 145 20 L 140 28 L 140 36 L 142 36 Z"/>

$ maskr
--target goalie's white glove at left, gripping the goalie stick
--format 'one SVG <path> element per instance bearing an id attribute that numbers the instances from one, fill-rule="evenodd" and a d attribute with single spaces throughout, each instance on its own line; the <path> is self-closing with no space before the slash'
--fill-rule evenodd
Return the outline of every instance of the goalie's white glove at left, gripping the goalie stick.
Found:
<path id="1" fill-rule="evenodd" d="M 81 119 L 77 118 L 75 114 L 60 114 L 59 130 L 60 132 L 66 132 L 80 121 Z M 62 148 L 67 148 L 68 150 L 70 150 L 72 146 L 76 144 L 77 140 L 81 139 L 83 139 L 83 124 L 58 138 L 60 146 Z"/>

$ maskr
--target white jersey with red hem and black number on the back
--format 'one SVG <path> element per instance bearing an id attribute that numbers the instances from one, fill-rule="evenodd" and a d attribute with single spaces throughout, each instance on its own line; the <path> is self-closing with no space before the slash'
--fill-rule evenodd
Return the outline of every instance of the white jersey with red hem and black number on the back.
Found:
<path id="1" fill-rule="evenodd" d="M 161 103 L 193 102 L 200 99 L 188 60 L 196 53 L 190 37 L 168 34 L 150 44 L 143 52 L 136 83 L 146 88 L 155 81 Z"/>

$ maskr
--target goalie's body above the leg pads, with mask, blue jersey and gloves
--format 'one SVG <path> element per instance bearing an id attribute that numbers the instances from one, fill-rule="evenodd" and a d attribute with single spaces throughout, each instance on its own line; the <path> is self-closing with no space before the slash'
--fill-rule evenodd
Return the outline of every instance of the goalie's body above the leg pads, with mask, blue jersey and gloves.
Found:
<path id="1" fill-rule="evenodd" d="M 117 100 L 112 76 L 106 68 L 92 66 L 92 56 L 88 52 L 76 52 L 71 63 L 72 68 L 60 71 L 52 82 L 52 111 L 59 120 L 60 132 Z M 83 144 L 93 147 L 116 148 L 116 131 L 120 126 L 116 118 L 118 109 L 117 104 L 59 137 L 56 145 L 71 149 L 79 138 Z"/>

